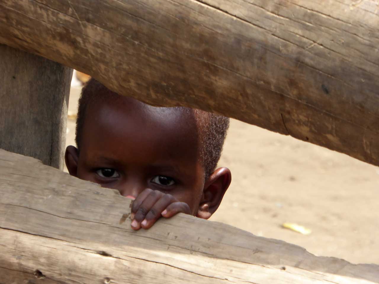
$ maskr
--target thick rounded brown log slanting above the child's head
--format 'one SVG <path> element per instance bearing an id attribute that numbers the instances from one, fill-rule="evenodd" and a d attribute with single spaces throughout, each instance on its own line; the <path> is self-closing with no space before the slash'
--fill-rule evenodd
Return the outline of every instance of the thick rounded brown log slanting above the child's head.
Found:
<path id="1" fill-rule="evenodd" d="M 379 165 L 376 0 L 0 0 L 0 42 Z"/>

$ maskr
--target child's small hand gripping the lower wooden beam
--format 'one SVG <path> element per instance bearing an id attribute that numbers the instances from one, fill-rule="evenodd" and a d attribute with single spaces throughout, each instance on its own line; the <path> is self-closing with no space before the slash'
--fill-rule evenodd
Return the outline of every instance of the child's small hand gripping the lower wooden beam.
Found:
<path id="1" fill-rule="evenodd" d="M 161 216 L 171 218 L 180 212 L 191 214 L 187 203 L 179 202 L 171 194 L 145 189 L 133 201 L 132 229 L 149 229 Z"/>

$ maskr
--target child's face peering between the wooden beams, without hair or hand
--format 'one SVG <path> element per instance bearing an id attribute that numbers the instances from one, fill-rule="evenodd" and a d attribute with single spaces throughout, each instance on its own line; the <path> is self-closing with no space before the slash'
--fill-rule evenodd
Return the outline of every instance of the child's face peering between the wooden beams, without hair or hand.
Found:
<path id="1" fill-rule="evenodd" d="M 124 97 L 100 99 L 87 106 L 76 174 L 70 173 L 126 197 L 135 198 L 146 188 L 160 190 L 197 215 L 208 198 L 199 144 L 196 120 L 189 113 Z"/>

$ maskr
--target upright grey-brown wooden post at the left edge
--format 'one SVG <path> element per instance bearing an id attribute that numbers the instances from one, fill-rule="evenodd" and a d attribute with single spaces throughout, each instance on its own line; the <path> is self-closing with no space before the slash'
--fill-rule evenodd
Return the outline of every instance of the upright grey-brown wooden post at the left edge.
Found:
<path id="1" fill-rule="evenodd" d="M 63 169 L 71 76 L 69 67 L 0 44 L 0 148 Z"/>

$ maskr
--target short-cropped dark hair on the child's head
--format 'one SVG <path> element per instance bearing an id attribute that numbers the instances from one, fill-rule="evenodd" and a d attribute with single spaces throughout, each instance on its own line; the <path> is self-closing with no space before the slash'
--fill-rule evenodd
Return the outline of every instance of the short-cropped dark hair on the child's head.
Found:
<path id="1" fill-rule="evenodd" d="M 78 115 L 76 121 L 75 142 L 80 151 L 80 142 L 82 128 L 85 121 L 86 109 L 90 102 L 99 100 L 107 100 L 116 98 L 120 95 L 112 92 L 99 81 L 95 79 L 89 80 L 81 91 L 78 102 Z M 202 111 L 199 109 L 191 109 L 185 107 L 185 111 L 193 111 L 197 120 L 200 120 L 200 159 L 205 172 L 205 179 L 216 169 L 217 163 L 221 157 L 222 147 L 229 129 L 229 118 L 222 115 L 217 115 L 211 112 Z"/>

